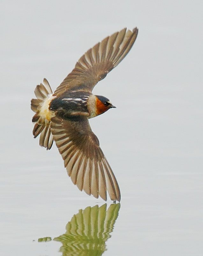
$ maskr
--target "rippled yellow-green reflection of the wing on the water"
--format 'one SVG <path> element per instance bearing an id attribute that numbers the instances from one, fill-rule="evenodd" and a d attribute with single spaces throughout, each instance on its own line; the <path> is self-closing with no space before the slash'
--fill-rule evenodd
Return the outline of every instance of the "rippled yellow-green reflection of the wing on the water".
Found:
<path id="1" fill-rule="evenodd" d="M 66 233 L 53 240 L 62 243 L 63 256 L 100 256 L 106 251 L 105 242 L 113 231 L 120 204 L 103 204 L 79 210 L 66 225 Z M 45 241 L 40 238 L 38 241 Z"/>

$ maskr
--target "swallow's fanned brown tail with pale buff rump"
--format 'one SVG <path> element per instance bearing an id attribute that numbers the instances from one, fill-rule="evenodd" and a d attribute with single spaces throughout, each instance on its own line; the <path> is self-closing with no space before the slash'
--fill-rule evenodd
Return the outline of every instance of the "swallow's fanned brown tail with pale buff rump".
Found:
<path id="1" fill-rule="evenodd" d="M 31 109 L 35 112 L 32 119 L 34 123 L 33 135 L 36 138 L 40 134 L 40 146 L 50 149 L 53 144 L 50 119 L 54 114 L 49 110 L 49 103 L 54 97 L 46 78 L 44 78 L 43 84 L 36 86 L 34 94 L 37 99 L 31 100 Z"/>

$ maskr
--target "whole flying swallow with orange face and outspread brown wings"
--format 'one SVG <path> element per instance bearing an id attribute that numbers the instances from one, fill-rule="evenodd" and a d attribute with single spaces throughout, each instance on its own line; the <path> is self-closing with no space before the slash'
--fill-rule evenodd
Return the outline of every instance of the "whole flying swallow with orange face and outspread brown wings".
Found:
<path id="1" fill-rule="evenodd" d="M 44 78 L 34 90 L 37 99 L 31 100 L 34 138 L 40 135 L 39 144 L 47 150 L 55 141 L 72 182 L 86 194 L 105 201 L 108 192 L 112 201 L 120 202 L 120 188 L 89 119 L 115 106 L 92 90 L 123 60 L 137 34 L 136 27 L 107 36 L 84 53 L 54 93 Z"/>

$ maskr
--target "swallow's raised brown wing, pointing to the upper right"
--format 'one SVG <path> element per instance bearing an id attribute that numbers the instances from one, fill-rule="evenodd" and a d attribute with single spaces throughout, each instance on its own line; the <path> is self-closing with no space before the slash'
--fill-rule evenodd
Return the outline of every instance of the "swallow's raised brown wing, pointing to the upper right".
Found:
<path id="1" fill-rule="evenodd" d="M 98 81 L 115 68 L 126 56 L 134 44 L 138 29 L 133 31 L 122 29 L 111 36 L 107 36 L 96 44 L 78 60 L 73 71 L 66 76 L 56 88 L 54 96 L 59 96 L 66 90 L 83 87 L 92 91 Z"/>

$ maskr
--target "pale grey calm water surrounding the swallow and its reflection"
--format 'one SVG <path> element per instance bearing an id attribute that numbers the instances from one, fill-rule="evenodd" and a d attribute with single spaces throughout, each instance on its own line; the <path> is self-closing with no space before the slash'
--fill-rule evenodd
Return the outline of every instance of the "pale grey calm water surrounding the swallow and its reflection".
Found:
<path id="1" fill-rule="evenodd" d="M 33 139 L 30 99 L 55 89 L 79 57 L 123 27 L 139 28 L 127 57 L 94 93 L 117 106 L 90 120 L 121 189 L 105 255 L 203 253 L 202 1 L 1 1 L 1 255 L 61 255 L 80 192 L 55 145 Z M 110 203 L 110 202 L 109 202 Z M 36 240 L 33 242 L 33 240 Z"/>

